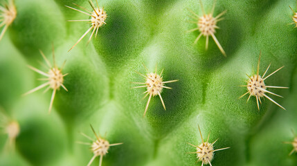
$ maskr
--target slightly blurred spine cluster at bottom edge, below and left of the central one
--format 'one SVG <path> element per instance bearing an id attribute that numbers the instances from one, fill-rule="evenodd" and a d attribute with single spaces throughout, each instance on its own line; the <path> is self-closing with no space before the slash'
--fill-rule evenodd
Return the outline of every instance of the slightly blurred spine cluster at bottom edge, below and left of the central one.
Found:
<path id="1" fill-rule="evenodd" d="M 109 142 L 107 140 L 105 140 L 104 138 L 102 138 L 100 135 L 98 136 L 97 133 L 95 132 L 95 130 L 93 129 L 92 125 L 91 129 L 94 133 L 94 135 L 96 136 L 96 140 L 94 140 L 93 138 L 87 136 L 84 133 L 81 133 L 82 136 L 84 136 L 85 138 L 88 138 L 89 140 L 93 141 L 92 143 L 89 142 L 78 142 L 82 145 L 90 145 L 91 146 L 91 150 L 93 151 L 94 156 L 91 158 L 91 160 L 89 161 L 88 165 L 91 165 L 93 163 L 93 160 L 97 157 L 100 156 L 100 160 L 99 160 L 99 166 L 102 165 L 102 159 L 103 156 L 105 156 L 105 154 L 108 153 L 108 149 L 109 147 L 113 147 L 116 145 L 122 145 L 123 143 L 114 143 L 114 144 L 109 144 Z"/>

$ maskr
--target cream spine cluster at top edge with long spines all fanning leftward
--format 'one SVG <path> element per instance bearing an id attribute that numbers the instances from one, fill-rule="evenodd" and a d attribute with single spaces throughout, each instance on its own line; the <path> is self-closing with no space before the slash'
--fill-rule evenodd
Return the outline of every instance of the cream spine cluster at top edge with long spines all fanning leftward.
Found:
<path id="1" fill-rule="evenodd" d="M 91 36 L 89 37 L 89 40 L 88 40 L 88 44 L 89 44 L 95 31 L 96 31 L 95 37 L 97 37 L 98 29 L 101 26 L 103 26 L 103 24 L 106 24 L 105 19 L 107 18 L 107 14 L 106 14 L 104 8 L 99 8 L 98 0 L 96 0 L 97 6 L 94 6 L 94 4 L 91 0 L 89 0 L 89 3 L 90 3 L 91 8 L 93 9 L 93 11 L 87 10 L 86 8 L 83 8 L 82 6 L 78 6 L 77 4 L 73 3 L 75 6 L 78 6 L 79 8 L 82 8 L 83 10 L 86 10 L 89 13 L 83 12 L 82 10 L 78 10 L 75 8 L 71 8 L 70 6 L 66 6 L 67 8 L 71 8 L 72 10 L 82 12 L 84 15 L 88 15 L 91 17 L 91 19 L 69 20 L 69 21 L 88 21 L 88 23 L 91 24 L 91 27 L 87 30 L 87 32 L 84 33 L 84 35 L 82 35 L 82 37 L 80 37 L 80 39 L 78 39 L 78 42 L 76 42 L 74 44 L 74 46 L 72 46 L 70 48 L 70 50 L 72 50 L 72 48 L 75 47 L 76 44 L 78 44 L 93 29 Z"/>

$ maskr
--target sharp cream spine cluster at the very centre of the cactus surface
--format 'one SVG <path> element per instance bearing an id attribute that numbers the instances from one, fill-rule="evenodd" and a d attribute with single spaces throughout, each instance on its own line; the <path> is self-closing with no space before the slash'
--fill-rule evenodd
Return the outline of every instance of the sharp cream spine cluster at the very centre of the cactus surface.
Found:
<path id="1" fill-rule="evenodd" d="M 143 74 L 139 73 L 138 71 L 136 71 L 136 73 L 138 73 L 138 75 L 141 75 L 141 76 L 145 77 L 145 82 L 132 82 L 132 83 L 134 83 L 134 84 L 145 84 L 145 85 L 135 86 L 135 87 L 132 87 L 132 88 L 143 88 L 143 87 L 147 88 L 147 91 L 144 92 L 144 93 L 146 93 L 144 98 L 146 98 L 147 95 L 150 95 L 150 96 L 149 96 L 149 99 L 147 100 L 147 105 L 145 107 L 145 113 L 143 113 L 143 116 L 145 116 L 145 114 L 147 112 L 147 108 L 148 108 L 148 106 L 150 104 L 150 99 L 152 98 L 152 96 L 154 97 L 155 95 L 159 95 L 160 100 L 162 102 L 162 105 L 163 105 L 164 109 L 166 110 L 163 98 L 161 96 L 161 92 L 162 92 L 163 88 L 165 88 L 165 89 L 172 89 L 172 88 L 170 88 L 168 86 L 164 86 L 164 84 L 171 83 L 171 82 L 177 82 L 178 80 L 171 80 L 171 81 L 163 82 L 162 74 L 163 74 L 164 69 L 158 75 L 157 74 L 157 66 L 156 66 L 156 69 L 155 69 L 155 73 L 150 73 L 150 71 L 147 69 L 147 67 L 144 64 L 143 64 L 143 66 L 145 67 L 145 70 L 147 71 L 147 74 L 143 75 Z"/>

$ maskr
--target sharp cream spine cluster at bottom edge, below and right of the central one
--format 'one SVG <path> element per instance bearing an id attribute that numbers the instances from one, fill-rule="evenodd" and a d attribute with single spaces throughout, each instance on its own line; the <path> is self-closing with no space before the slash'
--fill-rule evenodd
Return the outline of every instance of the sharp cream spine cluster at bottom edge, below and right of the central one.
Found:
<path id="1" fill-rule="evenodd" d="M 215 144 L 215 142 L 217 142 L 217 140 L 219 140 L 219 138 L 217 138 L 217 140 L 215 140 L 213 143 L 210 143 L 210 142 L 208 142 L 209 136 L 210 136 L 210 134 L 208 133 L 207 140 L 206 140 L 206 142 L 204 142 L 199 125 L 198 125 L 198 129 L 199 129 L 199 133 L 200 133 L 200 136 L 201 136 L 202 143 L 199 146 L 198 145 L 192 145 L 192 144 L 188 143 L 188 145 L 191 145 L 192 147 L 196 147 L 196 150 L 197 150 L 195 152 L 188 152 L 188 154 L 197 154 L 197 158 L 198 158 L 197 163 L 199 161 L 202 161 L 201 166 L 203 166 L 204 164 L 205 165 L 209 164 L 211 166 L 210 162 L 211 162 L 211 160 L 213 160 L 214 152 L 224 150 L 224 149 L 228 149 L 230 147 L 224 147 L 224 148 L 221 148 L 221 149 L 214 149 L 213 145 Z"/>

